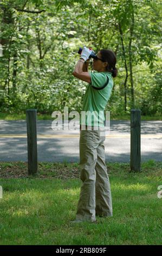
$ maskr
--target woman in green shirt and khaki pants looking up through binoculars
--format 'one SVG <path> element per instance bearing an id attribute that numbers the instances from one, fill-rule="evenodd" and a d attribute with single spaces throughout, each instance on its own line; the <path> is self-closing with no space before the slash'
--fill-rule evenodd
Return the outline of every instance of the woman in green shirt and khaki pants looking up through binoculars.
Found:
<path id="1" fill-rule="evenodd" d="M 80 120 L 80 169 L 82 180 L 80 199 L 73 223 L 96 222 L 96 216 L 112 216 L 111 187 L 105 163 L 104 109 L 112 92 L 116 77 L 116 57 L 111 50 L 100 50 L 93 60 L 93 69 L 88 72 L 88 60 L 92 50 L 83 47 L 73 75 L 89 83 L 83 98 L 82 111 L 101 113 L 99 120 L 88 114 Z M 95 114 L 94 114 L 95 117 Z M 97 128 L 97 129 L 96 129 Z M 91 129 L 91 130 L 89 130 Z"/>

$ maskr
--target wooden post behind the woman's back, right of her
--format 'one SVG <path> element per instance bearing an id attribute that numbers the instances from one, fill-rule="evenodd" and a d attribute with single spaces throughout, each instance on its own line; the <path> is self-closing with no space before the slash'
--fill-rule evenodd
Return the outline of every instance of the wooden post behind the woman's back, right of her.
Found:
<path id="1" fill-rule="evenodd" d="M 131 171 L 140 172 L 141 166 L 141 111 L 131 109 Z"/>

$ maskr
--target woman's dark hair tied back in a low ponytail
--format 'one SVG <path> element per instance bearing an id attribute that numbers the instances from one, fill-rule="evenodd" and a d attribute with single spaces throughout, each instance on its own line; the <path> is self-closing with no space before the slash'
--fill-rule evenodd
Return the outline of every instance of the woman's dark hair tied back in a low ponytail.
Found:
<path id="1" fill-rule="evenodd" d="M 118 69 L 116 69 L 115 64 L 116 64 L 116 56 L 115 53 L 111 50 L 105 50 L 102 49 L 100 50 L 101 57 L 105 62 L 108 63 L 106 66 L 106 70 L 112 73 L 112 77 L 116 77 L 118 74 Z"/>

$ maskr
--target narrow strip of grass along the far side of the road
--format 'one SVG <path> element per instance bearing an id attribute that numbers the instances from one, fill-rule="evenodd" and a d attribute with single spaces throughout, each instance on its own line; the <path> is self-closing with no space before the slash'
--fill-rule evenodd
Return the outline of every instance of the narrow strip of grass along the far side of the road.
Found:
<path id="1" fill-rule="evenodd" d="M 10 114 L 10 113 L 0 113 L 0 120 L 25 120 L 26 114 Z M 53 120 L 51 114 L 41 114 L 37 113 L 37 120 Z M 111 120 L 130 120 L 130 114 L 122 115 L 113 115 L 111 114 Z M 142 121 L 151 121 L 151 120 L 162 120 L 162 115 L 141 115 Z"/>

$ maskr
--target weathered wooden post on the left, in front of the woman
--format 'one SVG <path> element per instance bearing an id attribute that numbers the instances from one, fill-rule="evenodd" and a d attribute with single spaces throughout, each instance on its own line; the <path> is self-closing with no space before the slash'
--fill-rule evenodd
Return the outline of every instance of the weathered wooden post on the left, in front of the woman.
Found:
<path id="1" fill-rule="evenodd" d="M 36 109 L 27 109 L 28 174 L 37 173 Z"/>

